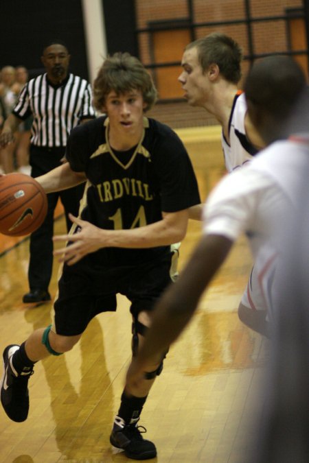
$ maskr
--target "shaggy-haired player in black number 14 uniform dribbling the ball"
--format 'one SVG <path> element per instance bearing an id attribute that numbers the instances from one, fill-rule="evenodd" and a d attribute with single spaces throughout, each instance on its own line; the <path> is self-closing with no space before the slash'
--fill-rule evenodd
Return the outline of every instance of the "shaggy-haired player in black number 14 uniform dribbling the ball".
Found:
<path id="1" fill-rule="evenodd" d="M 69 246 L 55 252 L 63 270 L 54 322 L 3 352 L 1 403 L 14 421 L 27 418 L 27 380 L 34 363 L 73 348 L 91 318 L 116 310 L 117 293 L 131 302 L 135 355 L 152 307 L 171 281 L 170 245 L 185 237 L 188 208 L 200 203 L 183 143 L 168 126 L 144 117 L 157 91 L 141 62 L 129 54 L 106 58 L 93 95 L 96 108 L 106 115 L 74 128 L 68 163 L 37 178 L 47 193 L 87 183 L 79 217 L 71 216 L 71 232 L 54 237 L 69 240 Z M 122 394 L 110 440 L 128 458 L 157 455 L 137 423 L 163 357 L 135 396 L 126 388 Z"/>

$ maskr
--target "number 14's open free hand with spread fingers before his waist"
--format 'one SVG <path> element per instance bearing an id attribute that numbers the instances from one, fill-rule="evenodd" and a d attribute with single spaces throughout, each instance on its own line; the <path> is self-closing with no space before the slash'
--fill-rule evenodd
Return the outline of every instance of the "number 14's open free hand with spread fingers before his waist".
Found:
<path id="1" fill-rule="evenodd" d="M 54 251 L 55 256 L 60 256 L 59 262 L 66 262 L 68 265 L 80 261 L 82 257 L 95 252 L 102 248 L 101 234 L 102 229 L 90 224 L 86 220 L 78 219 L 69 214 L 69 218 L 73 223 L 78 225 L 78 232 L 74 235 L 57 235 L 53 238 L 54 241 L 70 241 L 69 246 L 60 248 Z"/>

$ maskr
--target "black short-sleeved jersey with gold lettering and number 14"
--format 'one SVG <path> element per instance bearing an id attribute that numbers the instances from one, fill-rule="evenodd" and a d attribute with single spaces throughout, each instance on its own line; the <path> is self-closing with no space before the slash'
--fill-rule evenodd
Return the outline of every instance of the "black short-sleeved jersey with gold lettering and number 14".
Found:
<path id="1" fill-rule="evenodd" d="M 109 230 L 137 228 L 201 202 L 187 151 L 168 126 L 145 117 L 141 141 L 126 152 L 113 150 L 107 134 L 108 118 L 99 117 L 69 136 L 67 160 L 88 179 L 82 219 Z"/>

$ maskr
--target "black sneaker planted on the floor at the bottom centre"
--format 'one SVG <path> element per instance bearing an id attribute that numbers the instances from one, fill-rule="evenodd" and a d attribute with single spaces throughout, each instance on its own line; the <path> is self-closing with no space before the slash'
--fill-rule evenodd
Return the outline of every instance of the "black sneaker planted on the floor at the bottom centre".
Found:
<path id="1" fill-rule="evenodd" d="M 149 460 L 157 456 L 157 449 L 153 442 L 144 440 L 141 436 L 145 432 L 146 428 L 137 426 L 137 422 L 126 425 L 122 418 L 116 416 L 109 440 L 117 449 L 123 449 L 126 457 L 133 460 Z"/>

